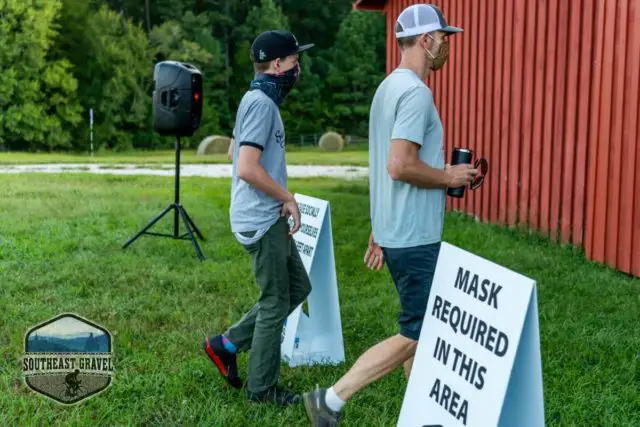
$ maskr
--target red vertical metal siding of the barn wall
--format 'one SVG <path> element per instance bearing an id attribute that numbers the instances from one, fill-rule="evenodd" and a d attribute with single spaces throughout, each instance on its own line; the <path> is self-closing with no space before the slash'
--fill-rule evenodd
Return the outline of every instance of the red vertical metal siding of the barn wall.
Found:
<path id="1" fill-rule="evenodd" d="M 387 2 L 387 72 L 400 54 Z M 449 210 L 526 225 L 640 276 L 640 1 L 435 0 L 452 25 L 429 77 L 447 158 L 469 147 L 486 185 Z"/>

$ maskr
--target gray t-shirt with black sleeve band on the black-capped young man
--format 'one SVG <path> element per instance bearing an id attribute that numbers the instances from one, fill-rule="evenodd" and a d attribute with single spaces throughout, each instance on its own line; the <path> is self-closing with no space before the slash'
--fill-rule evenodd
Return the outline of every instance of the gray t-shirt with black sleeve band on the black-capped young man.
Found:
<path id="1" fill-rule="evenodd" d="M 238 107 L 233 136 L 231 231 L 263 230 L 278 220 L 282 202 L 238 178 L 238 155 L 243 145 L 262 150 L 260 164 L 271 178 L 287 188 L 284 124 L 278 106 L 261 90 L 247 92 Z"/>

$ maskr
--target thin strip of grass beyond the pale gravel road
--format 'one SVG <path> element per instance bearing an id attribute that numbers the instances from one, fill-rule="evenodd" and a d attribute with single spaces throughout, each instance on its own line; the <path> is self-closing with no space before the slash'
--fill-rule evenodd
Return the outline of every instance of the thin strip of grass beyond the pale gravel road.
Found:
<path id="1" fill-rule="evenodd" d="M 181 151 L 182 163 L 229 163 L 226 154 L 198 156 L 193 149 Z M 96 154 L 65 153 L 0 153 L 0 165 L 50 164 L 50 163 L 132 163 L 137 165 L 174 164 L 175 151 L 125 152 Z M 369 158 L 366 145 L 348 147 L 341 152 L 327 152 L 316 147 L 287 147 L 287 163 L 291 165 L 351 165 L 367 166 Z"/>

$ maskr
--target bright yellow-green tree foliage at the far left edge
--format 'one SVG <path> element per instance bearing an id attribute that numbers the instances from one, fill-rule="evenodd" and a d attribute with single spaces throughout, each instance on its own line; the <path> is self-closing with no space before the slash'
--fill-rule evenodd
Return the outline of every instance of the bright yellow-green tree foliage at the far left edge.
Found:
<path id="1" fill-rule="evenodd" d="M 0 143 L 11 149 L 68 148 L 80 121 L 77 81 L 53 59 L 60 0 L 0 0 Z"/>

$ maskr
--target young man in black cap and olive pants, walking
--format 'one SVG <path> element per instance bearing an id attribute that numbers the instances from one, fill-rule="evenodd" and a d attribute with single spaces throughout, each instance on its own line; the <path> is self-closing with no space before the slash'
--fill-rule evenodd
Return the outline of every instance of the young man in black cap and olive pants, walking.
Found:
<path id="1" fill-rule="evenodd" d="M 232 232 L 252 258 L 260 297 L 235 325 L 203 342 L 206 354 L 235 388 L 243 386 L 236 354 L 251 349 L 249 400 L 282 406 L 299 400 L 278 386 L 282 328 L 311 292 L 311 283 L 292 239 L 300 227 L 300 211 L 287 190 L 279 107 L 300 77 L 299 55 L 311 47 L 300 46 L 283 30 L 260 34 L 251 47 L 256 77 L 238 107 L 229 153 L 230 219 Z"/>

